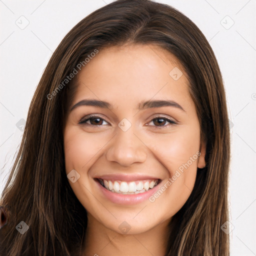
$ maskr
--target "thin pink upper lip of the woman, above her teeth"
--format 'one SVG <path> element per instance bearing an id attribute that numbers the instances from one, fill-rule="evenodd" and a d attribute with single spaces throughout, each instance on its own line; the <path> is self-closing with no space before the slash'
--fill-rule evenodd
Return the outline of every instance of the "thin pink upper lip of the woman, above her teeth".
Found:
<path id="1" fill-rule="evenodd" d="M 121 180 L 121 181 L 135 181 L 135 180 L 143 180 L 143 179 L 159 179 L 157 177 L 144 175 L 144 174 L 104 174 L 100 176 L 95 176 L 94 178 L 100 178 L 105 180 Z"/>

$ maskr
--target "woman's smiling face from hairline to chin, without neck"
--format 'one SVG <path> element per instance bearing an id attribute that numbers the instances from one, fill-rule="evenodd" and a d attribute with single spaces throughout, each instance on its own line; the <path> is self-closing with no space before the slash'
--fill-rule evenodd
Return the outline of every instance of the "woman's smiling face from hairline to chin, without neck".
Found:
<path id="1" fill-rule="evenodd" d="M 155 45 L 126 45 L 99 50 L 76 75 L 64 153 L 78 200 L 119 233 L 169 220 L 205 165 L 181 65 Z"/>

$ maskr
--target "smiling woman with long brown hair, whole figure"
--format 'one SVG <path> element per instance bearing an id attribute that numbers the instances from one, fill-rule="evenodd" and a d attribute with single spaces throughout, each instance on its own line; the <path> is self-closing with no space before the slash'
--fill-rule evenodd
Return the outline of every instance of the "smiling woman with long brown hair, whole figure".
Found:
<path id="1" fill-rule="evenodd" d="M 1 255 L 229 255 L 229 144 L 197 26 L 167 4 L 105 5 L 60 42 L 32 98 Z"/>

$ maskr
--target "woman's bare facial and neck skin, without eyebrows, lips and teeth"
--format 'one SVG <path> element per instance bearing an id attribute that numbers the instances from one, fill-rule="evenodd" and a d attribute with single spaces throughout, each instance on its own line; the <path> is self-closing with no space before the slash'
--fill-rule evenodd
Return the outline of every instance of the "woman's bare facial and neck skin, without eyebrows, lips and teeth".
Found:
<path id="1" fill-rule="evenodd" d="M 174 67 L 183 73 L 178 80 L 169 75 Z M 111 110 L 75 107 L 68 113 L 63 131 L 66 173 L 75 169 L 80 175 L 69 183 L 87 210 L 82 255 L 164 255 L 167 224 L 189 197 L 197 167 L 205 166 L 205 144 L 200 143 L 186 74 L 168 51 L 152 44 L 131 44 L 100 50 L 77 78 L 72 105 L 82 99 L 112 104 Z M 174 100 L 184 111 L 174 106 L 136 109 L 141 100 L 156 99 Z M 78 124 L 88 114 L 101 119 Z M 176 124 L 154 119 L 159 115 Z M 118 126 L 123 118 L 131 123 L 126 131 Z M 95 175 L 140 173 L 157 176 L 164 185 L 198 151 L 200 156 L 154 202 L 113 203 L 93 180 Z M 125 234 L 118 228 L 123 221 L 130 226 Z"/>

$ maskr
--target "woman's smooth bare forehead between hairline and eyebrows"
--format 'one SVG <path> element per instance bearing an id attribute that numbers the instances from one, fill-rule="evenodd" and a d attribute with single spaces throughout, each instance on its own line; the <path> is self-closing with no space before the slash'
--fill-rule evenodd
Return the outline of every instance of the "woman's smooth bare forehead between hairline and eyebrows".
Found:
<path id="1" fill-rule="evenodd" d="M 188 80 L 178 59 L 154 44 L 99 50 L 78 72 L 77 85 L 74 101 L 97 97 L 116 107 L 142 98 L 189 99 Z"/>

